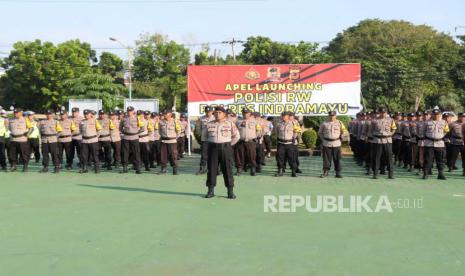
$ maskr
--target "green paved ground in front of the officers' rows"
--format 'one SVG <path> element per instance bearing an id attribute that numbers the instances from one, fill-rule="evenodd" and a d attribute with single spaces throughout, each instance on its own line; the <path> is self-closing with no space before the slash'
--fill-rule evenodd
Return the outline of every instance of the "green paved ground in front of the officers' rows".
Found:
<path id="1" fill-rule="evenodd" d="M 0 174 L 0 275 L 464 275 L 465 178 L 373 181 L 345 159 L 345 178 L 236 178 L 207 200 L 197 159 L 181 175 Z M 271 165 L 271 161 L 269 161 Z M 222 184 L 222 180 L 220 180 Z M 423 199 L 393 213 L 264 213 L 264 195 Z"/>

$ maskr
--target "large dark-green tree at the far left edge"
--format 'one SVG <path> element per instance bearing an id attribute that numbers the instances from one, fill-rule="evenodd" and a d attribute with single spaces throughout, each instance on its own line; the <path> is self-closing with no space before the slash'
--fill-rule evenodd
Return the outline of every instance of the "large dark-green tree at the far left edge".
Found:
<path id="1" fill-rule="evenodd" d="M 90 73 L 95 61 L 90 45 L 79 40 L 56 46 L 40 40 L 17 42 L 1 64 L 6 69 L 0 87 L 4 104 L 56 108 L 61 105 L 64 80 Z"/>

